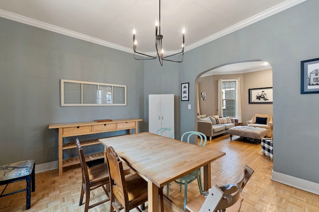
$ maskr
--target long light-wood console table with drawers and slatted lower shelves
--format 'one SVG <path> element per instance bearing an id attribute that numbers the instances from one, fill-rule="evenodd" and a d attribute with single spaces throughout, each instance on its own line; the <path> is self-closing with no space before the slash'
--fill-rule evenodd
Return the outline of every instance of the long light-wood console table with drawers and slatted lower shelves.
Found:
<path id="1" fill-rule="evenodd" d="M 64 124 L 50 124 L 49 129 L 58 129 L 58 166 L 59 166 L 59 177 L 62 176 L 63 167 L 79 164 L 79 157 L 72 157 L 63 159 L 63 150 L 76 148 L 76 142 L 63 143 L 63 138 L 71 136 L 83 136 L 89 134 L 114 132 L 120 130 L 130 130 L 132 134 L 132 129 L 135 129 L 135 133 L 138 133 L 138 122 L 143 121 L 142 119 L 119 119 L 106 122 L 74 122 L 74 123 L 64 123 Z M 98 139 L 81 141 L 81 146 L 99 144 Z M 86 155 L 86 160 L 95 160 L 99 158 L 104 158 L 104 151 L 95 152 Z"/>

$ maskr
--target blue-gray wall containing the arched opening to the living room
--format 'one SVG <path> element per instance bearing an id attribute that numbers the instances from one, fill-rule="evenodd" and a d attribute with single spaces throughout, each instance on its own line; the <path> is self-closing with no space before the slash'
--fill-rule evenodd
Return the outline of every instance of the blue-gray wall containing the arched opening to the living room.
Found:
<path id="1" fill-rule="evenodd" d="M 319 183 L 319 142 L 314 132 L 319 119 L 313 111 L 318 108 L 319 94 L 300 94 L 300 61 L 319 57 L 318 8 L 318 0 L 302 2 L 186 52 L 179 66 L 179 82 L 191 82 L 193 98 L 194 82 L 204 71 L 233 62 L 269 62 L 273 68 L 274 171 L 315 183 Z M 196 129 L 194 109 L 190 112 L 181 105 L 181 131 Z"/>

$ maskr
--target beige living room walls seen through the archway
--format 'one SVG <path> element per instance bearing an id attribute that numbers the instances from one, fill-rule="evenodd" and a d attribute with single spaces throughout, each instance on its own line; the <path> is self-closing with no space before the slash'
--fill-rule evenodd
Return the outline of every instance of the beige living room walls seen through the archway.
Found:
<path id="1" fill-rule="evenodd" d="M 240 78 L 241 85 L 241 109 L 242 122 L 246 122 L 252 118 L 256 113 L 273 115 L 273 104 L 249 104 L 248 103 L 248 89 L 259 87 L 273 86 L 273 71 L 263 70 L 240 74 L 219 74 L 200 77 L 198 79 L 199 89 L 198 94 L 206 92 L 207 100 L 199 100 L 200 113 L 208 115 L 217 115 L 217 90 L 218 79 L 235 79 Z"/>

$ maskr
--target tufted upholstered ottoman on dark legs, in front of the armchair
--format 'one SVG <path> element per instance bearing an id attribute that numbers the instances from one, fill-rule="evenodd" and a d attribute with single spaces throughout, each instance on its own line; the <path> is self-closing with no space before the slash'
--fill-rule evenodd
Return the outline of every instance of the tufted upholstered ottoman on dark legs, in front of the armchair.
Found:
<path id="1" fill-rule="evenodd" d="M 262 138 L 267 136 L 268 130 L 258 127 L 236 126 L 228 129 L 228 133 L 230 135 L 230 141 L 233 136 L 240 136 L 240 138 L 247 139 L 251 142 L 260 142 Z"/>

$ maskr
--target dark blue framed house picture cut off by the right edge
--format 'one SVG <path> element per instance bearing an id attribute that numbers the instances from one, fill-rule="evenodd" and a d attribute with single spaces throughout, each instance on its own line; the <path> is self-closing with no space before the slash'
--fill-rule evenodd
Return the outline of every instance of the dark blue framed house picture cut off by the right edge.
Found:
<path id="1" fill-rule="evenodd" d="M 319 93 L 319 58 L 301 61 L 300 93 Z"/>

